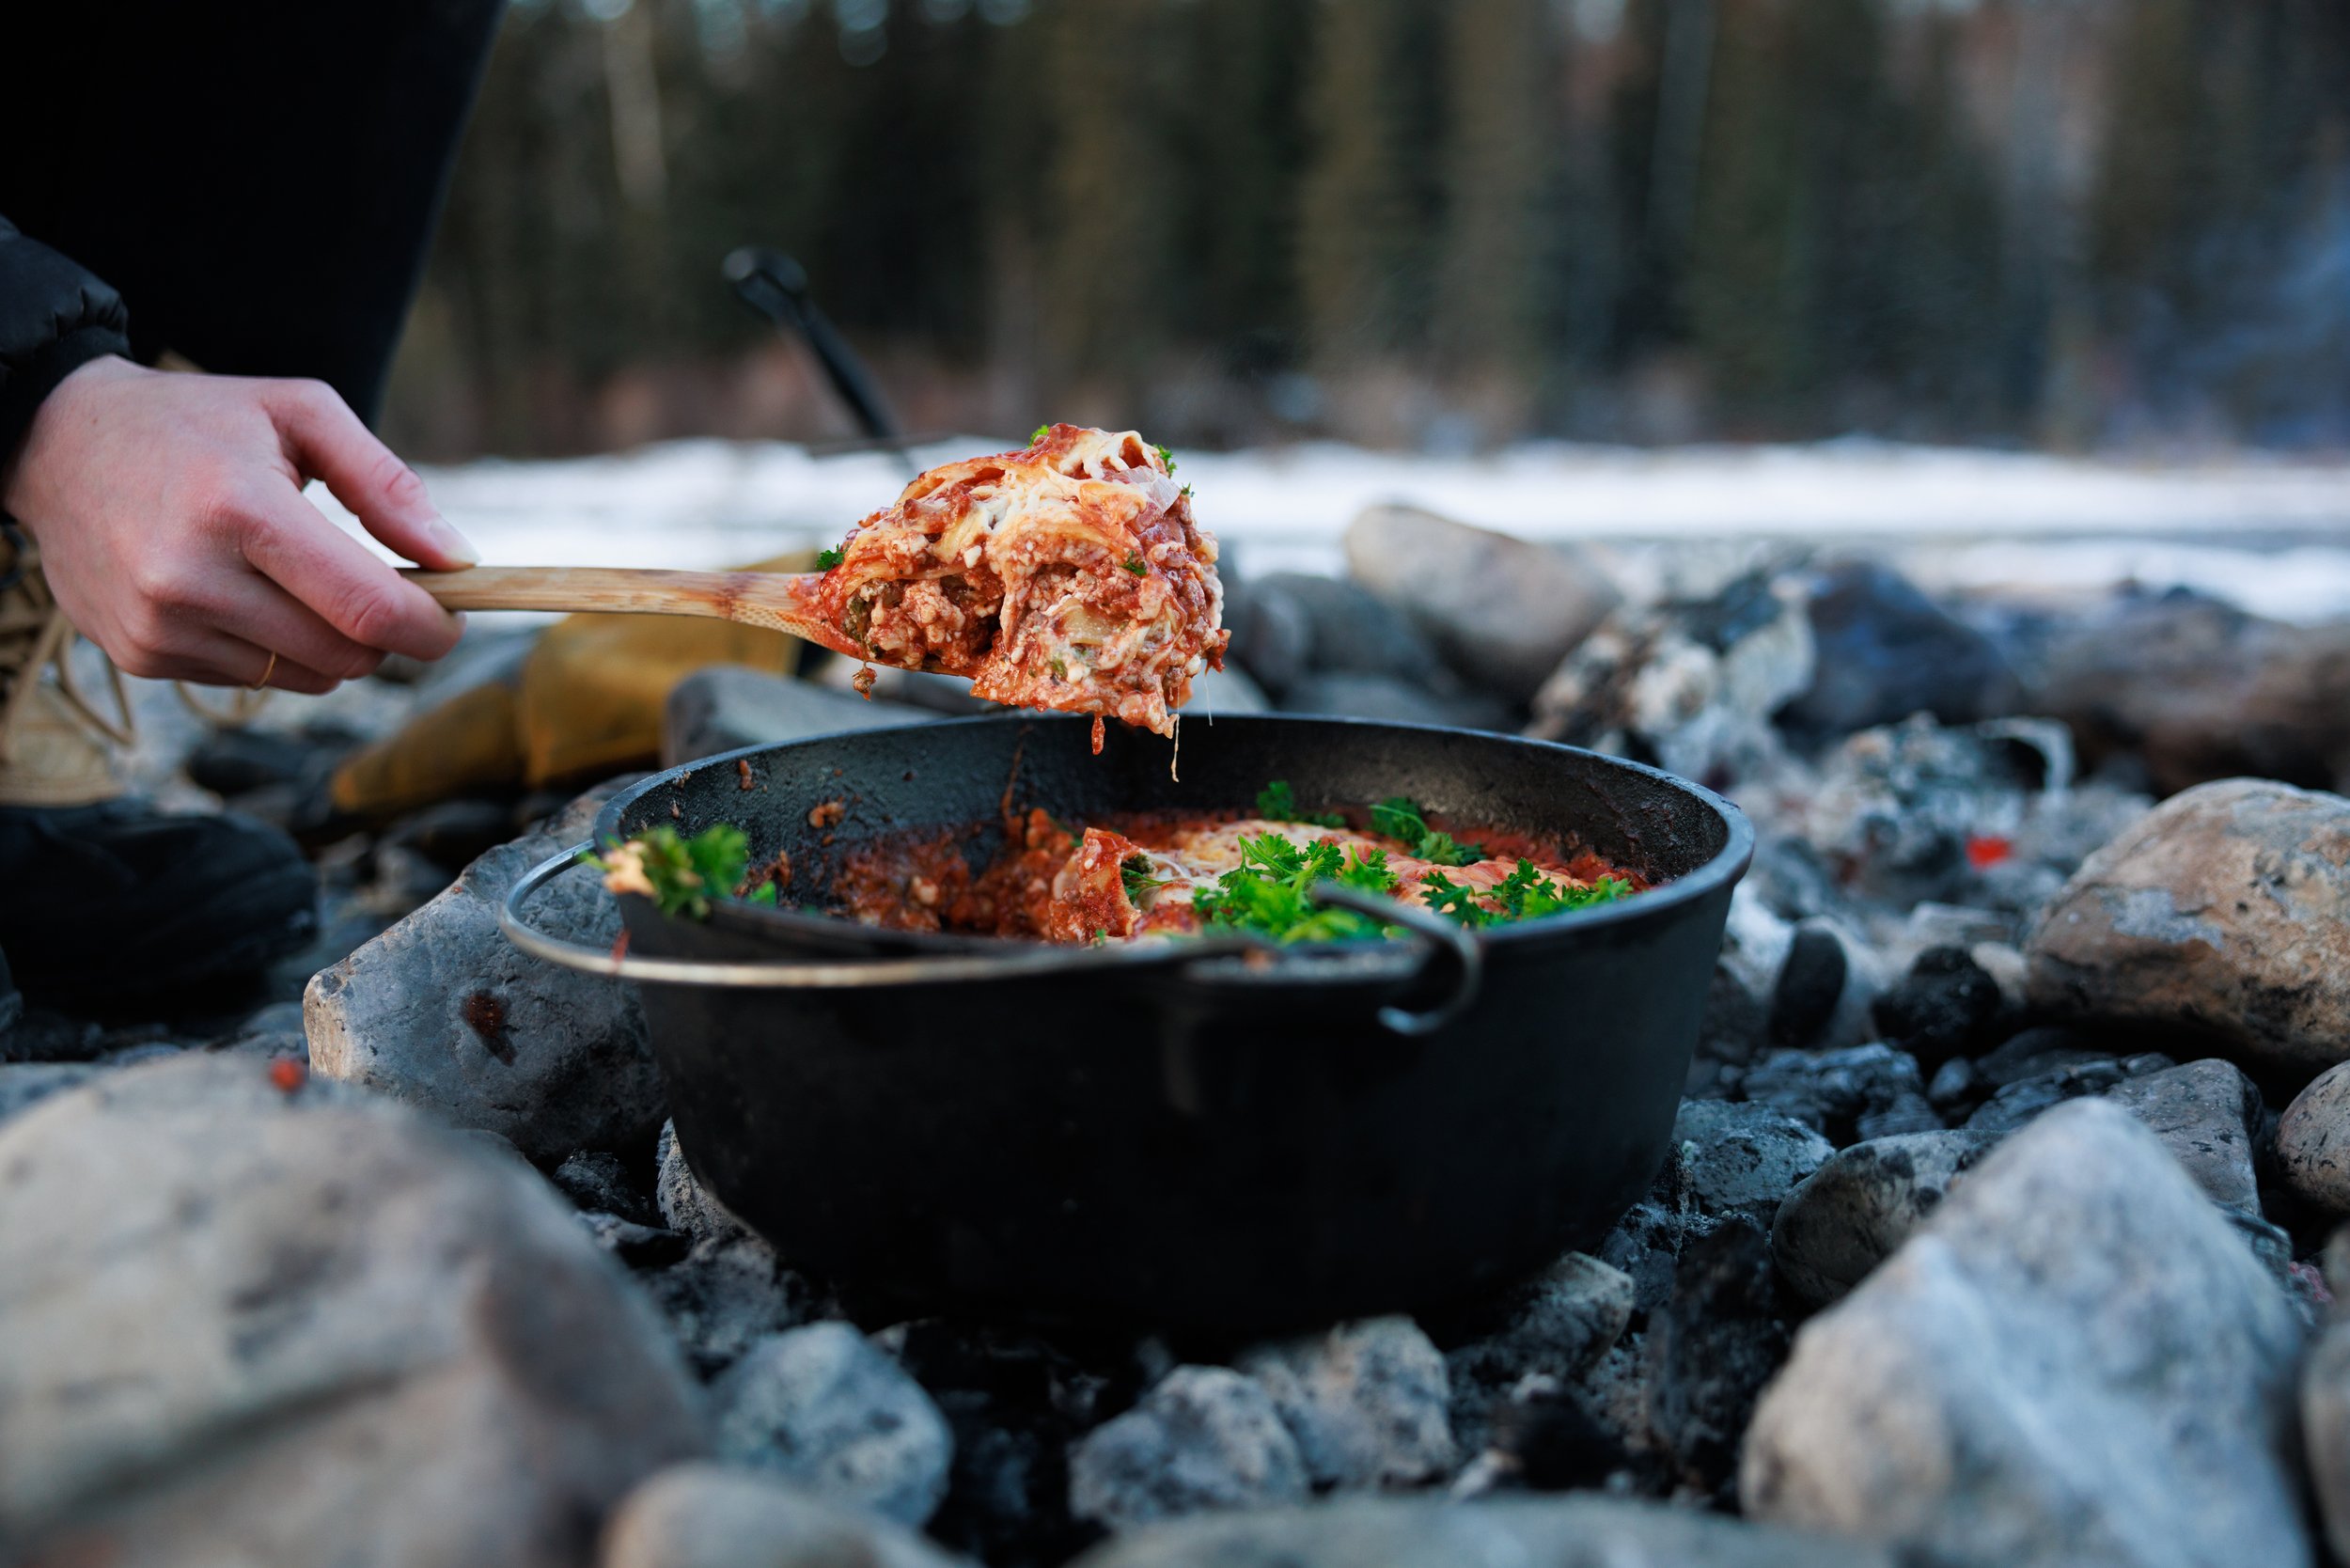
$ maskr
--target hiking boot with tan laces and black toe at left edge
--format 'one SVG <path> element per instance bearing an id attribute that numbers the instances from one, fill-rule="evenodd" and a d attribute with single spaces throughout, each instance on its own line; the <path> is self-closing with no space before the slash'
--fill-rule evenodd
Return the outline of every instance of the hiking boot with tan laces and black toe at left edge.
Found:
<path id="1" fill-rule="evenodd" d="M 132 799 L 132 738 L 73 672 L 73 625 L 38 550 L 0 524 L 0 952 L 40 1006 L 122 1013 L 256 976 L 317 929 L 317 877 L 289 837 L 242 816 Z"/>

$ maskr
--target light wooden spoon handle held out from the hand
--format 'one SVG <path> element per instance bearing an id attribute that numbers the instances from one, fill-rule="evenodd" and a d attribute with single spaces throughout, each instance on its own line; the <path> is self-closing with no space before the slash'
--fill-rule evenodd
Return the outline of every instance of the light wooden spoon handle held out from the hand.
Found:
<path id="1" fill-rule="evenodd" d="M 468 567 L 402 571 L 446 609 L 548 609 L 597 616 L 710 616 L 764 625 L 879 661 L 815 609 L 822 571 L 658 571 L 639 567 Z"/>

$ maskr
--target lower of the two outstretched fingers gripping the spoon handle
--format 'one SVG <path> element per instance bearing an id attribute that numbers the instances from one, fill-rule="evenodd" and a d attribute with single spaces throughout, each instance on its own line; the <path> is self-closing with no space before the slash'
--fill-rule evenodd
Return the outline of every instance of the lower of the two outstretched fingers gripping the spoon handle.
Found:
<path id="1" fill-rule="evenodd" d="M 301 491 L 256 484 L 237 510 L 244 559 L 350 642 L 428 661 L 456 646 L 465 623 L 362 550 Z"/>

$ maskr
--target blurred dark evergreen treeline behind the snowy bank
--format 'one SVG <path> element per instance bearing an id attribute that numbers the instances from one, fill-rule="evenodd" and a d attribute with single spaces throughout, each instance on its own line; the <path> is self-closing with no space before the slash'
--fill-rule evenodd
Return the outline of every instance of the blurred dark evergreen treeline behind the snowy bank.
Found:
<path id="1" fill-rule="evenodd" d="M 538 0 L 390 428 L 2350 437 L 2341 0 Z"/>

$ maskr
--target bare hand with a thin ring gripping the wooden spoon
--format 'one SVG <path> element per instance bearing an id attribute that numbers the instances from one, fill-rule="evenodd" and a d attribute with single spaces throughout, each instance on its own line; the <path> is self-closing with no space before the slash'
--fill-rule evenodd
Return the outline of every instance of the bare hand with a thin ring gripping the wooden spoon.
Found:
<path id="1" fill-rule="evenodd" d="M 317 693 L 385 654 L 446 654 L 463 623 L 310 505 L 308 480 L 421 567 L 477 559 L 423 480 L 324 383 L 118 357 L 42 400 L 0 470 L 0 510 L 40 543 L 73 625 L 129 675 L 219 686 L 268 675 Z"/>

